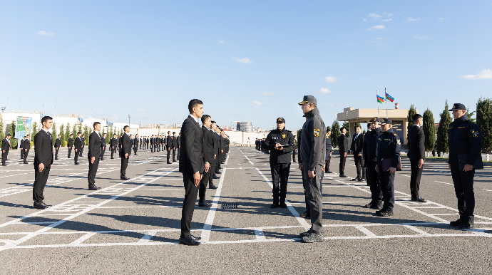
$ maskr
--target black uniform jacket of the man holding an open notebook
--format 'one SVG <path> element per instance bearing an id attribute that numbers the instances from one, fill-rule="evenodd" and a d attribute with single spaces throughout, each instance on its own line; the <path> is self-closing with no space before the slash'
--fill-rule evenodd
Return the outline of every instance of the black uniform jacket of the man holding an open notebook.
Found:
<path id="1" fill-rule="evenodd" d="M 265 140 L 265 146 L 271 150 L 270 152 L 270 164 L 276 165 L 279 163 L 290 163 L 290 152 L 294 151 L 294 146 L 284 147 L 282 150 L 275 149 L 275 144 L 280 145 L 293 145 L 294 135 L 290 131 L 285 130 L 272 130 Z"/>

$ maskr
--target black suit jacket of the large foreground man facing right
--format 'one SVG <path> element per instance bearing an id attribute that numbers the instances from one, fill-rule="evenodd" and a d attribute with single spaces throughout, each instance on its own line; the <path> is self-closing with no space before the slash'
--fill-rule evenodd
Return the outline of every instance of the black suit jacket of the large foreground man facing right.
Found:
<path id="1" fill-rule="evenodd" d="M 180 172 L 183 174 L 203 173 L 205 161 L 203 153 L 203 131 L 191 116 L 181 126 Z"/>

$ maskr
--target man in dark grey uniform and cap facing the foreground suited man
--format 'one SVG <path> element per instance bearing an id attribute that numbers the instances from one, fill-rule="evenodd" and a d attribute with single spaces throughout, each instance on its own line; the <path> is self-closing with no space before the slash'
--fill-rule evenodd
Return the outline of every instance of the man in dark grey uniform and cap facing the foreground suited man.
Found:
<path id="1" fill-rule="evenodd" d="M 302 242 L 323 242 L 323 204 L 321 180 L 324 172 L 326 154 L 326 132 L 324 122 L 319 116 L 317 100 L 312 95 L 304 95 L 302 112 L 307 120 L 302 125 L 302 140 L 300 141 L 299 169 L 304 171 L 306 182 L 306 199 L 309 202 L 311 229 L 301 233 Z"/>

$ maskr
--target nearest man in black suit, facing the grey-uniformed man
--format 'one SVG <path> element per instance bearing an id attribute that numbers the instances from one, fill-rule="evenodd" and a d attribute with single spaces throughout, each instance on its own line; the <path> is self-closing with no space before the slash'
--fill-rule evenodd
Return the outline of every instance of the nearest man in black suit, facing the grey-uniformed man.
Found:
<path id="1" fill-rule="evenodd" d="M 191 220 L 195 210 L 195 202 L 203 178 L 203 172 L 208 172 L 210 163 L 205 163 L 203 151 L 203 131 L 198 124 L 198 119 L 203 115 L 203 103 L 201 100 L 193 99 L 188 104 L 190 115 L 183 122 L 181 133 L 183 133 L 183 154 L 180 155 L 179 172 L 183 173 L 183 184 L 185 185 L 185 200 L 181 211 L 181 235 L 180 244 L 198 245 L 198 239 L 190 234 Z M 169 141 L 169 140 L 168 140 Z M 169 145 L 168 145 L 169 146 Z"/>

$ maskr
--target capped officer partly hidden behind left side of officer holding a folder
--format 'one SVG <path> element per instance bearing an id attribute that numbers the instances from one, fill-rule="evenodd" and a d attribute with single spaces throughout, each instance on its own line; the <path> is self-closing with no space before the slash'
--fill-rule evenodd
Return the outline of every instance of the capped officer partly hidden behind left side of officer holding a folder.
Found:
<path id="1" fill-rule="evenodd" d="M 377 166 L 377 142 L 381 135 L 381 120 L 378 117 L 371 119 L 371 131 L 366 133 L 364 137 L 363 153 L 364 163 L 367 167 L 367 175 L 369 177 L 369 188 L 371 190 L 371 202 L 366 204 L 367 208 L 382 209 L 383 208 L 383 191 L 379 182 L 379 175 L 376 172 Z"/>

